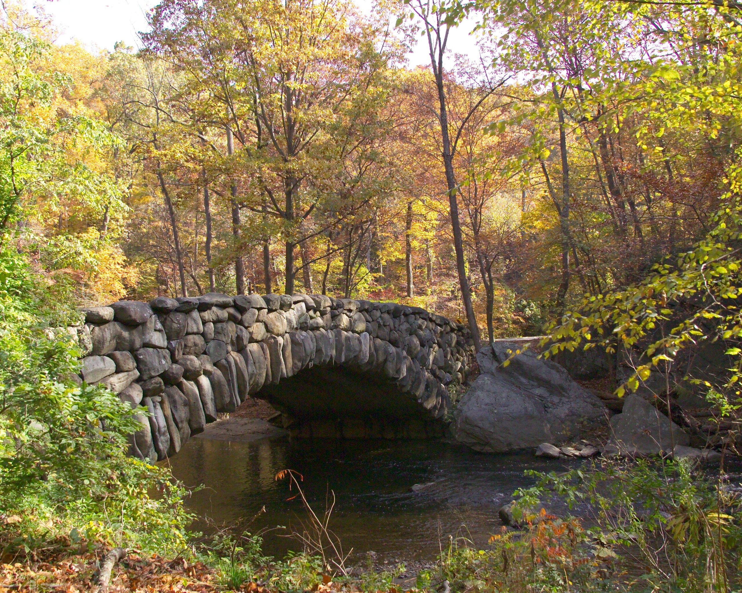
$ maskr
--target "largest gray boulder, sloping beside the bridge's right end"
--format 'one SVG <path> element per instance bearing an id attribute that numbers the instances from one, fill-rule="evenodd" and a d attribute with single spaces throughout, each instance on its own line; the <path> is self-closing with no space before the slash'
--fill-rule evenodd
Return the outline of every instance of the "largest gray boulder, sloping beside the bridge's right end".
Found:
<path id="1" fill-rule="evenodd" d="M 563 443 L 606 417 L 603 402 L 556 362 L 525 351 L 502 366 L 518 348 L 496 342 L 477 354 L 482 374 L 454 413 L 459 443 L 488 453 Z"/>

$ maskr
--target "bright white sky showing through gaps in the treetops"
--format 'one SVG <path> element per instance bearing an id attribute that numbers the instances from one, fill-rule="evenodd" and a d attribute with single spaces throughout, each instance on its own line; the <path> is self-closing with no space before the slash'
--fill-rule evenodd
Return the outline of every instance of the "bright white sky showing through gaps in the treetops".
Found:
<path id="1" fill-rule="evenodd" d="M 361 9 L 369 0 L 355 0 Z M 37 0 L 36 4 L 53 18 L 60 31 L 58 43 L 79 41 L 90 50 L 113 50 L 122 41 L 141 47 L 138 32 L 147 30 L 147 13 L 157 0 Z M 448 47 L 456 53 L 476 58 L 475 39 L 469 35 L 473 25 L 464 21 L 454 30 Z M 410 66 L 429 64 L 427 44 L 418 43 L 410 56 Z"/>

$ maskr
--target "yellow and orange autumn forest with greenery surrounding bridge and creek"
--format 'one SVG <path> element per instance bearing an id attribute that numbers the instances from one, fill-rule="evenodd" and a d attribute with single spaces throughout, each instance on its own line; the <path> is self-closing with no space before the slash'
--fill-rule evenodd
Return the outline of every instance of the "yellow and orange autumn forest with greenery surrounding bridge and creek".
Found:
<path id="1" fill-rule="evenodd" d="M 450 42 L 464 21 L 478 59 Z M 39 562 L 71 574 L 64 554 L 116 546 L 170 562 L 171 581 L 162 560 L 160 584 L 132 591 L 400 590 L 378 571 L 332 581 L 308 553 L 269 565 L 245 532 L 194 534 L 169 466 L 127 457 L 131 410 L 68 380 L 65 328 L 119 299 L 322 294 L 433 311 L 476 351 L 638 348 L 617 397 L 720 343 L 728 368 L 685 379 L 736 455 L 738 1 L 162 0 L 148 23 L 142 47 L 96 53 L 2 4 L 0 592 L 45 590 Z M 411 67 L 416 45 L 429 61 Z M 659 531 L 635 509 L 597 535 L 536 521 L 528 543 L 441 553 L 418 588 L 737 590 L 734 479 L 608 463 L 539 479 L 572 500 L 605 502 L 608 474 L 654 492 Z M 654 564 L 603 580 L 632 546 Z"/>

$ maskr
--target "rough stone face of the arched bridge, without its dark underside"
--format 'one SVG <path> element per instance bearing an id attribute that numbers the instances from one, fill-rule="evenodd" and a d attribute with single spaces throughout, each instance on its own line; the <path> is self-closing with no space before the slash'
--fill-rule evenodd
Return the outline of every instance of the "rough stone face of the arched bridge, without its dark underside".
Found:
<path id="1" fill-rule="evenodd" d="M 101 383 L 142 429 L 131 454 L 162 460 L 264 385 L 304 368 L 382 374 L 428 417 L 450 408 L 447 385 L 469 374 L 467 328 L 422 308 L 324 295 L 209 293 L 83 309 L 72 328 L 86 356 L 81 381 Z"/>

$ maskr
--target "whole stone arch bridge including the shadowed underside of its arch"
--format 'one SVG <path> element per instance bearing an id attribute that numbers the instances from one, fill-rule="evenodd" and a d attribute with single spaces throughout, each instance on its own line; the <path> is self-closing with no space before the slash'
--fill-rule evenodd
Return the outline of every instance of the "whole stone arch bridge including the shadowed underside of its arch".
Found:
<path id="1" fill-rule="evenodd" d="M 249 395 L 295 437 L 441 436 L 447 386 L 469 374 L 467 328 L 422 308 L 324 295 L 209 293 L 83 309 L 70 328 L 102 383 L 150 416 L 132 439 L 162 460 Z"/>

